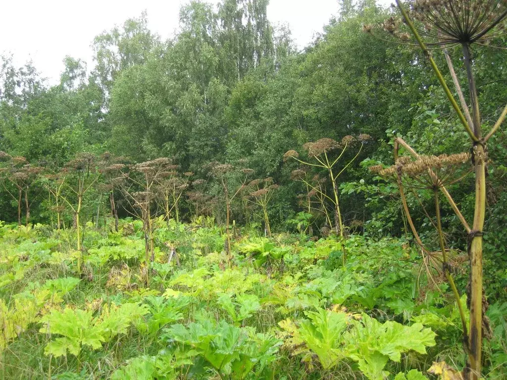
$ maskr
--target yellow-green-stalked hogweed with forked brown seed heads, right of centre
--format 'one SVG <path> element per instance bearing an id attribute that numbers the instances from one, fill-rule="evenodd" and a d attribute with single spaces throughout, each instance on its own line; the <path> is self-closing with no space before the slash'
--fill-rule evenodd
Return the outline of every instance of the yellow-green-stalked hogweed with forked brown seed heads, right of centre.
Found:
<path id="1" fill-rule="evenodd" d="M 342 249 L 343 249 L 343 263 L 346 260 L 346 252 L 345 245 L 343 244 L 343 240 L 345 239 L 345 226 L 343 223 L 342 213 L 340 210 L 340 197 L 339 197 L 339 189 L 338 189 L 338 177 L 354 162 L 354 160 L 359 156 L 361 150 L 363 149 L 363 145 L 367 140 L 371 137 L 367 134 L 361 134 L 358 138 L 354 138 L 353 136 L 345 136 L 342 138 L 340 142 L 333 140 L 331 138 L 321 138 L 320 140 L 314 142 L 307 142 L 303 144 L 303 149 L 306 151 L 308 156 L 308 161 L 300 159 L 299 153 L 296 150 L 288 150 L 283 155 L 283 160 L 287 161 L 290 159 L 294 159 L 302 165 L 322 168 L 328 172 L 329 178 L 331 180 L 331 185 L 333 189 L 333 197 L 328 196 L 327 194 L 322 192 L 322 189 L 316 187 L 311 182 L 306 181 L 303 177 L 301 177 L 301 181 L 305 183 L 309 188 L 313 191 L 322 195 L 322 197 L 327 198 L 334 206 L 334 214 L 335 214 L 335 232 L 340 236 L 342 240 Z M 356 151 L 356 154 L 352 159 L 342 165 L 342 167 L 336 171 L 335 167 L 340 162 L 340 159 L 345 154 L 345 151 L 354 145 L 354 142 L 359 141 L 359 148 Z M 333 151 L 338 151 L 337 157 L 332 156 Z"/>

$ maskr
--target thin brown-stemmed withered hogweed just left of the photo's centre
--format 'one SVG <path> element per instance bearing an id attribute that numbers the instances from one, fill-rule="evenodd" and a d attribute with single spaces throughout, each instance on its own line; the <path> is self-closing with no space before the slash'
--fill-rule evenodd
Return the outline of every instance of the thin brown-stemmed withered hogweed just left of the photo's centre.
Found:
<path id="1" fill-rule="evenodd" d="M 243 191 L 248 176 L 253 174 L 252 169 L 236 169 L 231 164 L 220 164 L 218 162 L 212 162 L 209 165 L 210 173 L 213 175 L 221 185 L 222 193 L 224 195 L 224 201 L 226 206 L 226 244 L 225 253 L 229 264 L 231 263 L 231 205 L 234 199 Z M 234 179 L 237 179 L 234 181 Z"/>

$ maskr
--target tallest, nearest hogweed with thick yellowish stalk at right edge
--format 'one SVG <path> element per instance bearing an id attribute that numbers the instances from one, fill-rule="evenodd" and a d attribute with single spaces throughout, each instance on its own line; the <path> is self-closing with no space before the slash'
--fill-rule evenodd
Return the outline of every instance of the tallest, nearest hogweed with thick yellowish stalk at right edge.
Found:
<path id="1" fill-rule="evenodd" d="M 400 19 L 391 17 L 386 20 L 382 25 L 383 29 L 402 40 L 404 44 L 419 46 L 472 144 L 470 160 L 474 166 L 476 182 L 472 227 L 468 226 L 453 203 L 451 206 L 468 233 L 467 251 L 470 260 L 468 285 L 470 331 L 465 346 L 468 360 L 463 375 L 465 378 L 477 380 L 481 377 L 483 321 L 484 313 L 487 310 L 487 302 L 483 296 L 483 229 L 486 213 L 487 142 L 503 123 L 507 115 L 507 105 L 503 108 L 496 123 L 484 136 L 473 72 L 472 46 L 473 44 L 489 45 L 494 43 L 498 37 L 505 35 L 507 3 L 503 0 L 463 0 L 459 2 L 416 0 L 410 3 L 409 9 L 406 9 L 400 0 L 396 0 L 396 5 L 402 17 Z M 369 25 L 364 28 L 367 32 L 373 30 Z M 452 47 L 459 47 L 462 51 L 467 78 L 468 103 L 463 96 L 452 60 L 447 52 L 447 48 Z M 433 60 L 430 52 L 432 48 L 444 49 L 459 103 Z M 440 187 L 440 190 L 443 192 L 443 187 Z M 448 200 L 451 200 L 445 192 L 444 195 Z"/>

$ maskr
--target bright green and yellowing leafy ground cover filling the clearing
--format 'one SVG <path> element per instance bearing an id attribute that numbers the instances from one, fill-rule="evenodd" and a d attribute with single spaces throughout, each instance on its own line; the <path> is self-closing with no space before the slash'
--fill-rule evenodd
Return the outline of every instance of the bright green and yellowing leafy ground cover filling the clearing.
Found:
<path id="1" fill-rule="evenodd" d="M 159 219 L 147 268 L 141 222 L 111 231 L 85 228 L 79 278 L 73 232 L 1 225 L 2 378 L 420 380 L 464 364 L 447 285 L 427 286 L 403 240 L 351 236 L 343 265 L 336 238 L 238 230 L 229 264 L 218 227 Z M 505 312 L 488 311 L 487 378 L 507 370 Z"/>

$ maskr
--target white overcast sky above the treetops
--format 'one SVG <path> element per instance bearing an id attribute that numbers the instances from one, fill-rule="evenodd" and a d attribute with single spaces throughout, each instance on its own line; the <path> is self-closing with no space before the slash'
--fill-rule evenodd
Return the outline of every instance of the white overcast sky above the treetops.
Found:
<path id="1" fill-rule="evenodd" d="M 93 68 L 93 38 L 128 18 L 148 13 L 149 28 L 163 40 L 178 28 L 178 12 L 188 0 L 23 0 L 2 3 L 0 54 L 14 55 L 16 66 L 32 60 L 53 85 L 63 70 L 63 58 L 81 58 Z M 214 0 L 209 1 L 214 3 Z M 270 0 L 268 19 L 287 23 L 299 48 L 308 45 L 338 13 L 337 0 Z"/>

